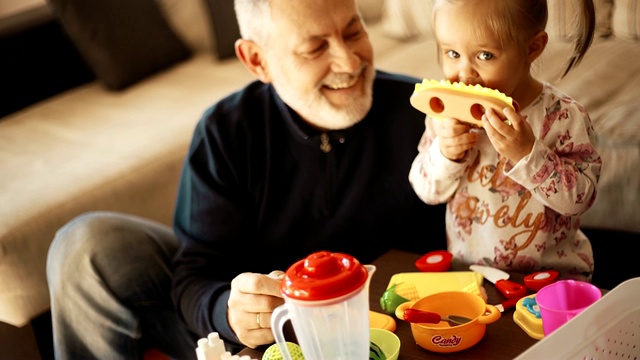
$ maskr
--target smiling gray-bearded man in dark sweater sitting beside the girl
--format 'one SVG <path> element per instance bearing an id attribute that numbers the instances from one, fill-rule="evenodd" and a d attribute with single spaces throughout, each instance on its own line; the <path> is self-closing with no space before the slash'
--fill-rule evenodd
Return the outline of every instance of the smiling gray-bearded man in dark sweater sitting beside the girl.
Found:
<path id="1" fill-rule="evenodd" d="M 374 69 L 355 0 L 235 9 L 236 54 L 257 80 L 198 123 L 173 229 L 90 213 L 54 239 L 56 357 L 140 358 L 153 346 L 194 358 L 213 331 L 232 352 L 269 344 L 283 303 L 273 275 L 296 260 L 446 247 L 444 207 L 420 201 L 407 179 L 424 130 L 408 101 L 417 80 Z M 430 218 L 442 228 L 415 237 Z"/>

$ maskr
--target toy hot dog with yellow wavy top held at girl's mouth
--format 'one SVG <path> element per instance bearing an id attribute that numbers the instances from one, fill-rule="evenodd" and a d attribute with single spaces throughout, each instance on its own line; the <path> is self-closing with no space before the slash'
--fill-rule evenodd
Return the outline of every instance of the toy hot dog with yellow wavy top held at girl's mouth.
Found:
<path id="1" fill-rule="evenodd" d="M 493 109 L 507 123 L 502 109 L 519 111 L 518 104 L 504 93 L 480 85 L 466 85 L 449 80 L 428 80 L 416 84 L 411 105 L 433 118 L 454 118 L 482 127 L 485 109 Z"/>

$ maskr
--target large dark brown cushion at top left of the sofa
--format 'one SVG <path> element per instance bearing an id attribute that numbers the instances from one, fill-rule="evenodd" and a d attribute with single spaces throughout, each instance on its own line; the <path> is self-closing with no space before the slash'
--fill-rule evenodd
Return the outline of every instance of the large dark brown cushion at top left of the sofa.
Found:
<path id="1" fill-rule="evenodd" d="M 50 0 L 54 13 L 98 79 L 121 90 L 187 59 L 154 0 Z"/>

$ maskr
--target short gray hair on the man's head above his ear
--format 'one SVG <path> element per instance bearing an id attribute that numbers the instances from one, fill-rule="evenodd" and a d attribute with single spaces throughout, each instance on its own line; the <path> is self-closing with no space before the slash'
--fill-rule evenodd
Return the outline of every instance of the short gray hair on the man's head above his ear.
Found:
<path id="1" fill-rule="evenodd" d="M 235 11 L 242 38 L 264 45 L 271 30 L 270 0 L 235 0 Z"/>

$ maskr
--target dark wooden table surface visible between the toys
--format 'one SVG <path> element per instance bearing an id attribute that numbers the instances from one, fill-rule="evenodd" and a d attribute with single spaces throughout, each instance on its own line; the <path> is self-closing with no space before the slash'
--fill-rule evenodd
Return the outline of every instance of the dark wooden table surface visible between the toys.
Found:
<path id="1" fill-rule="evenodd" d="M 373 311 L 383 312 L 380 307 L 380 297 L 387 289 L 391 276 L 401 272 L 418 271 L 414 265 L 420 257 L 419 254 L 391 250 L 373 262 L 376 265 L 376 272 L 371 278 L 369 303 Z M 452 264 L 452 270 L 468 270 L 468 267 Z M 510 279 L 523 283 L 524 274 L 511 274 Z M 502 295 L 496 290 L 492 283 L 484 281 L 487 290 L 488 303 L 499 304 L 504 300 Z M 430 352 L 418 346 L 411 335 L 409 323 L 396 319 L 396 335 L 400 338 L 401 348 L 399 360 L 411 359 L 513 359 L 537 342 L 536 339 L 527 335 L 514 321 L 513 308 L 505 310 L 498 321 L 487 325 L 487 331 L 479 343 L 473 347 L 460 352 L 441 354 Z M 261 359 L 267 346 L 256 349 L 246 348 L 238 355 L 249 355 L 252 359 Z M 310 359 L 314 360 L 314 359 Z"/>

